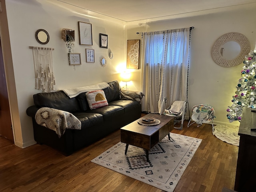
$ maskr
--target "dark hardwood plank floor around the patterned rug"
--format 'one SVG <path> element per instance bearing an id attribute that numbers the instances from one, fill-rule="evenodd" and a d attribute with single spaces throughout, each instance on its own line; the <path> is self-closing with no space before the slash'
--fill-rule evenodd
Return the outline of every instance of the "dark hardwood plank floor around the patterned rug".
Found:
<path id="1" fill-rule="evenodd" d="M 212 135 L 212 126 L 193 124 L 173 133 L 202 139 L 175 192 L 221 192 L 234 189 L 238 146 Z M 66 157 L 35 144 L 21 149 L 0 137 L 1 192 L 162 192 L 90 162 L 120 141 L 120 130 Z"/>

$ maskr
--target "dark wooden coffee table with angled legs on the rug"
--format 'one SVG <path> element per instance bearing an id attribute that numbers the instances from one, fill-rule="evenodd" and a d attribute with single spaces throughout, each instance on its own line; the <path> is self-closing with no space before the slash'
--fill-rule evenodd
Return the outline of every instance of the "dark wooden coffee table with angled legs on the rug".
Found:
<path id="1" fill-rule="evenodd" d="M 160 124 L 155 126 L 145 126 L 138 124 L 138 120 L 143 118 L 155 118 L 160 120 Z M 158 114 L 147 114 L 123 128 L 121 128 L 121 142 L 126 143 L 125 153 L 128 146 L 136 146 L 146 150 L 148 161 L 148 151 L 160 142 L 166 135 L 170 140 L 170 132 L 174 128 L 174 118 Z"/>

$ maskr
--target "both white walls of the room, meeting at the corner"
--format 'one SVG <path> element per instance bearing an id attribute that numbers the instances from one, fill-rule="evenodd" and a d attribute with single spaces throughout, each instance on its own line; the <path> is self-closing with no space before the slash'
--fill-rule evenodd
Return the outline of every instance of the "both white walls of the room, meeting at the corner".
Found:
<path id="1" fill-rule="evenodd" d="M 170 18 L 160 22 L 149 21 L 148 24 L 138 25 L 139 22 L 124 24 L 123 22 L 97 16 L 76 7 L 63 7 L 56 0 L 8 0 L 6 10 L 10 45 L 14 68 L 20 115 L 22 137 L 16 136 L 16 144 L 21 147 L 34 144 L 32 120 L 26 115 L 28 106 L 33 105 L 33 94 L 40 91 L 34 89 L 34 62 L 29 46 L 52 47 L 55 89 L 72 88 L 91 85 L 98 82 L 120 80 L 120 69 L 125 67 L 126 40 L 140 39 L 136 32 L 156 31 L 194 26 L 191 32 L 191 57 L 188 84 L 188 99 L 190 108 L 196 104 L 210 104 L 216 112 L 216 122 L 228 123 L 226 108 L 231 104 L 232 95 L 236 90 L 242 64 L 232 68 L 218 66 L 211 57 L 211 48 L 216 39 L 228 32 L 244 34 L 254 48 L 256 40 L 256 22 L 251 6 L 236 6 L 234 10 L 225 8 L 218 13 L 202 13 L 201 16 L 182 15 L 180 18 Z M 189 17 L 188 17 L 189 16 Z M 92 23 L 93 46 L 79 45 L 78 21 Z M 144 21 L 140 21 L 143 23 Z M 124 29 L 125 27 L 125 29 Z M 36 30 L 43 28 L 50 35 L 50 42 L 39 44 L 34 38 Z M 61 39 L 61 29 L 75 30 L 74 52 L 81 53 L 82 65 L 68 65 L 68 49 Z M 99 33 L 108 34 L 108 49 L 99 47 Z M 95 50 L 95 63 L 85 62 L 85 48 Z M 108 53 L 114 53 L 110 60 Z M 107 58 L 107 66 L 100 66 L 100 58 Z M 132 82 L 128 82 L 130 90 L 140 90 L 140 69 L 132 70 Z M 11 109 L 12 110 L 12 109 Z M 238 122 L 235 122 L 238 123 Z M 19 145 L 19 146 L 20 146 Z"/>

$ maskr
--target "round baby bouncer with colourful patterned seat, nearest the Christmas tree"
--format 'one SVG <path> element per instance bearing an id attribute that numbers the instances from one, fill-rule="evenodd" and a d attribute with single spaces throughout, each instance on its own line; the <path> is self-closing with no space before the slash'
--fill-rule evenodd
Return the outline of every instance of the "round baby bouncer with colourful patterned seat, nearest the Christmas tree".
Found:
<path id="1" fill-rule="evenodd" d="M 200 127 L 203 123 L 212 123 L 213 129 L 214 118 L 215 112 L 212 106 L 205 104 L 195 105 L 192 108 L 192 116 L 188 122 L 188 127 L 193 123 L 198 124 L 197 127 Z M 191 120 L 193 120 L 194 122 L 190 124 Z"/>

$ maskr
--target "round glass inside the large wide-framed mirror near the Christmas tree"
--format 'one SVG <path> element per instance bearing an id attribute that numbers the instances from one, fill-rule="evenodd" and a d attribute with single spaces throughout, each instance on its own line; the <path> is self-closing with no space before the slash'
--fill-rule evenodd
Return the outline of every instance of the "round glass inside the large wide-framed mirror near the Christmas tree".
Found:
<path id="1" fill-rule="evenodd" d="M 228 41 L 220 46 L 220 55 L 226 60 L 235 59 L 241 51 L 240 44 L 235 41 Z"/>

